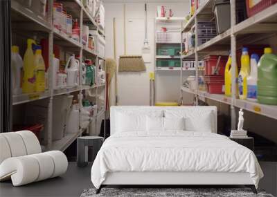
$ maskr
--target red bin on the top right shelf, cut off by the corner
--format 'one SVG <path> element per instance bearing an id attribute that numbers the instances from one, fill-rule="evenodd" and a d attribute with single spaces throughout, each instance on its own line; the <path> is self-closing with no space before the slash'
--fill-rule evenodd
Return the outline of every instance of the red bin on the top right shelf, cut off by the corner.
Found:
<path id="1" fill-rule="evenodd" d="M 277 3 L 277 0 L 260 0 L 260 1 L 253 1 L 253 0 L 246 0 L 247 1 L 247 15 L 248 17 L 252 17 L 256 15 L 258 12 L 265 10 L 269 6 L 274 5 Z"/>

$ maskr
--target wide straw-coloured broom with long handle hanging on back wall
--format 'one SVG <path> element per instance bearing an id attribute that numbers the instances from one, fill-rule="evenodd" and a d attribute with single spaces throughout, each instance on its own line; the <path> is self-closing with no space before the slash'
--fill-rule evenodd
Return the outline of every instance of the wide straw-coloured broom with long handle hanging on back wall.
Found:
<path id="1" fill-rule="evenodd" d="M 123 28 L 124 28 L 124 55 L 119 57 L 118 72 L 141 72 L 145 71 L 145 64 L 141 55 L 127 55 L 126 53 L 126 27 L 125 27 L 125 4 L 123 11 Z"/>

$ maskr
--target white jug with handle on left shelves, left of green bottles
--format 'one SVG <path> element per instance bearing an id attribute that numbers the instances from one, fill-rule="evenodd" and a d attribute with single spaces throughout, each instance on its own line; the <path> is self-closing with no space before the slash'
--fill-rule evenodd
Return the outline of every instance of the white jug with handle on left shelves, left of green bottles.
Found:
<path id="1" fill-rule="evenodd" d="M 66 62 L 65 72 L 67 73 L 67 86 L 78 86 L 79 60 L 71 55 Z"/>

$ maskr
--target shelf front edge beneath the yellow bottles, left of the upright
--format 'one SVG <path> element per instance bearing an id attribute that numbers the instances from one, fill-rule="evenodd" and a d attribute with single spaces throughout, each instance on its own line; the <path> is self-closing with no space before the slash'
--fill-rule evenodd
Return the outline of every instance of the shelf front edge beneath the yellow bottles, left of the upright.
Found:
<path id="1" fill-rule="evenodd" d="M 50 91 L 45 91 L 43 93 L 23 93 L 20 95 L 12 95 L 12 105 L 42 100 L 47 97 L 50 97 Z"/>

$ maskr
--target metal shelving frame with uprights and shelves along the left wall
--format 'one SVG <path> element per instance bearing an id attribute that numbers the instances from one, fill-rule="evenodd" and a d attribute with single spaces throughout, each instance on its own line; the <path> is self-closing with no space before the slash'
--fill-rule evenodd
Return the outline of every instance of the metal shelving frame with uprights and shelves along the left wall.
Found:
<path id="1" fill-rule="evenodd" d="M 100 30 L 96 21 L 91 17 L 89 12 L 84 8 L 80 0 L 62 0 L 61 1 L 64 5 L 66 5 L 66 9 L 69 9 L 69 12 L 72 12 L 73 15 L 77 15 L 77 18 L 80 19 L 80 38 L 82 37 L 82 24 L 83 21 L 90 21 L 94 28 L 105 37 L 105 30 Z M 53 0 L 48 0 L 48 12 L 47 17 L 41 17 L 37 15 L 35 12 L 30 10 L 29 8 L 25 8 L 16 0 L 12 0 L 11 4 L 11 17 L 12 17 L 12 33 L 13 34 L 21 34 L 21 32 L 28 32 L 25 37 L 39 37 L 40 35 L 44 35 L 45 38 L 48 39 L 48 59 L 52 58 L 53 54 L 53 44 L 57 44 L 64 48 L 65 51 L 69 53 L 75 53 L 80 55 L 80 59 L 83 57 L 88 57 L 91 59 L 96 60 L 96 67 L 98 68 L 98 59 L 103 59 L 105 61 L 105 57 L 98 57 L 98 54 L 85 46 L 82 45 L 81 39 L 80 41 L 75 41 L 71 39 L 64 33 L 60 32 L 56 28 L 53 27 Z M 46 145 L 46 150 L 60 150 L 64 151 L 69 145 L 78 138 L 79 135 L 82 135 L 86 129 L 79 129 L 76 133 L 65 133 L 64 137 L 61 140 L 52 140 L 52 124 L 53 124 L 53 113 L 55 113 L 55 109 L 53 109 L 53 97 L 57 95 L 66 95 L 70 93 L 75 93 L 78 95 L 78 101 L 80 107 L 82 106 L 82 93 L 83 91 L 89 91 L 94 89 L 96 94 L 102 95 L 103 98 L 103 106 L 100 107 L 98 104 L 99 101 L 96 99 L 96 104 L 99 106 L 99 111 L 96 116 L 93 116 L 91 120 L 98 120 L 102 117 L 102 114 L 105 113 L 105 84 L 95 84 L 93 86 L 83 86 L 80 80 L 80 84 L 75 87 L 71 88 L 62 88 L 58 90 L 54 90 L 52 87 L 51 79 L 53 76 L 52 72 L 52 62 L 49 61 L 49 68 L 48 68 L 48 91 L 44 93 L 30 93 L 30 94 L 21 94 L 21 95 L 13 95 L 12 96 L 12 104 L 13 106 L 24 104 L 28 102 L 33 102 L 36 100 L 43 100 L 47 99 L 48 102 L 48 121 L 47 121 L 47 131 L 45 131 L 46 138 L 44 138 L 44 144 Z M 79 75 L 81 76 L 81 69 Z M 97 71 L 96 71 L 97 72 Z M 98 79 L 96 78 L 96 81 Z M 80 125 L 81 115 L 78 120 L 78 124 Z M 102 121 L 99 120 L 99 121 Z M 80 126 L 79 126 L 80 128 Z M 95 128 L 99 129 L 99 128 Z"/>

